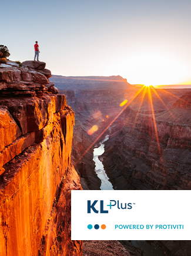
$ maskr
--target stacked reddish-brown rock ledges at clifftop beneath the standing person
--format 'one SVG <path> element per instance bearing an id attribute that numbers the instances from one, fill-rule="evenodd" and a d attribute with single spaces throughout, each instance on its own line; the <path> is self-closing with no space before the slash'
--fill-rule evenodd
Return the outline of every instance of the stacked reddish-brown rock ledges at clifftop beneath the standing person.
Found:
<path id="1" fill-rule="evenodd" d="M 42 96 L 49 87 L 48 78 L 51 71 L 45 69 L 45 62 L 24 61 L 22 67 L 5 67 L 0 69 L 0 95 L 31 95 Z M 6 65 L 8 66 L 8 65 Z M 57 94 L 51 84 L 51 93 Z"/>

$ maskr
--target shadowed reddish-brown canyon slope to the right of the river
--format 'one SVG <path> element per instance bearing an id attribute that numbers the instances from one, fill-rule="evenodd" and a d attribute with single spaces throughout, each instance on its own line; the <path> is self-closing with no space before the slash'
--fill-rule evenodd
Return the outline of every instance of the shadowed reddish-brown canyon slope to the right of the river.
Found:
<path id="1" fill-rule="evenodd" d="M 115 189 L 191 189 L 190 95 L 156 111 L 155 121 L 151 109 L 124 111 L 123 127 L 112 128 L 103 154 Z"/>

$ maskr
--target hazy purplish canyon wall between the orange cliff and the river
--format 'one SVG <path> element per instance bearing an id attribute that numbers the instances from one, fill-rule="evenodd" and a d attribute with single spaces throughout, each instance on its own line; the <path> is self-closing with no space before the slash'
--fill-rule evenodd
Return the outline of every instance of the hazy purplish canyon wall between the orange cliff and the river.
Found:
<path id="1" fill-rule="evenodd" d="M 95 173 L 93 147 L 83 158 L 81 156 L 98 138 L 112 118 L 120 111 L 120 103 L 125 98 L 133 97 L 138 90 L 120 76 L 112 77 L 51 77 L 61 94 L 75 111 L 72 160 L 81 175 L 83 189 L 100 189 L 100 179 Z M 98 126 L 98 131 L 89 135 L 88 131 Z M 99 138 L 101 141 L 104 137 Z M 99 142 L 98 141 L 98 142 Z M 78 161 L 78 159 L 80 161 Z"/>

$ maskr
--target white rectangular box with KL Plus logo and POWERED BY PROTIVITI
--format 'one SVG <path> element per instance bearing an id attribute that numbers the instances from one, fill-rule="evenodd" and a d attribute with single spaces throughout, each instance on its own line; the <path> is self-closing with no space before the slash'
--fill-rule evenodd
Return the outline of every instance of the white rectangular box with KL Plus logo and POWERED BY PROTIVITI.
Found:
<path id="1" fill-rule="evenodd" d="M 72 191 L 72 240 L 191 240 L 190 198 L 185 190 Z M 88 214 L 88 200 L 99 213 Z M 125 203 L 132 208 L 119 209 Z"/>

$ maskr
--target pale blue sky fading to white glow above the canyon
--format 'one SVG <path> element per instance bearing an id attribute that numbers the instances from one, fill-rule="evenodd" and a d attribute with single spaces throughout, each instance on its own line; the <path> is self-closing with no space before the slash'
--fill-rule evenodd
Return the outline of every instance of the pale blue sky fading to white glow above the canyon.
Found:
<path id="1" fill-rule="evenodd" d="M 6 0 L 0 44 L 22 62 L 38 41 L 53 75 L 191 84 L 190 9 L 190 0 Z"/>

